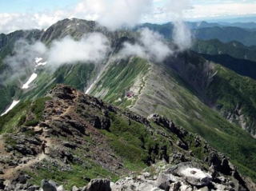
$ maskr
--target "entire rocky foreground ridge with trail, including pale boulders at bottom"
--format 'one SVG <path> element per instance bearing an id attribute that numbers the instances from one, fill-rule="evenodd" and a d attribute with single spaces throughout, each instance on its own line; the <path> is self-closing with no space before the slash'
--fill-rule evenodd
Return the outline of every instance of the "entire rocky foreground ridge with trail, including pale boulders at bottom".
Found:
<path id="1" fill-rule="evenodd" d="M 65 85 L 16 109 L 2 123 L 2 190 L 256 188 L 202 137 L 157 113 L 142 117 Z"/>

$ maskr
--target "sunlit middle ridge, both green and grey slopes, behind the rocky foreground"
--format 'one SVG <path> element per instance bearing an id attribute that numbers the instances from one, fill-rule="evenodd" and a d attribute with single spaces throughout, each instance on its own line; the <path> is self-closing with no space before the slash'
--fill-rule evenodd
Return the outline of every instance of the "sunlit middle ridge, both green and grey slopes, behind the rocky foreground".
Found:
<path id="1" fill-rule="evenodd" d="M 211 70 L 206 73 L 210 83 L 216 75 L 216 66 L 207 63 L 210 66 L 204 67 Z M 134 93 L 133 97 L 127 97 L 126 93 L 130 91 Z M 170 66 L 140 58 L 114 62 L 90 94 L 146 117 L 151 113 L 169 117 L 178 125 L 205 137 L 216 149 L 229 154 L 243 173 L 255 178 L 256 169 L 252 165 L 256 164 L 254 138 L 200 101 L 197 90 Z"/>

